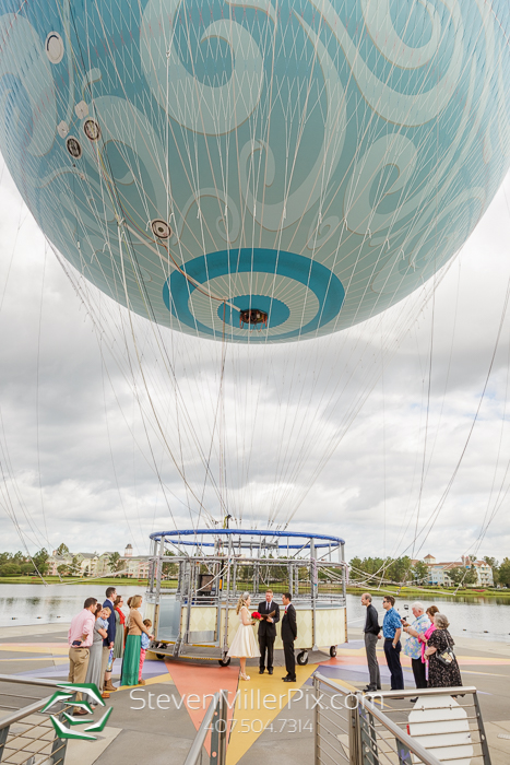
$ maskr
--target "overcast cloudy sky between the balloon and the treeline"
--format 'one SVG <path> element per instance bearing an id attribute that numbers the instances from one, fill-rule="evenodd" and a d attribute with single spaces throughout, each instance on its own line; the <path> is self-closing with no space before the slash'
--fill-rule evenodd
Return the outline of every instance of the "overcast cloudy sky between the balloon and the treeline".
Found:
<path id="1" fill-rule="evenodd" d="M 509 198 L 507 178 L 434 295 L 228 346 L 222 378 L 221 344 L 142 319 L 134 343 L 123 309 L 84 303 L 3 170 L 0 548 L 142 554 L 227 507 L 343 537 L 348 558 L 510 555 Z"/>

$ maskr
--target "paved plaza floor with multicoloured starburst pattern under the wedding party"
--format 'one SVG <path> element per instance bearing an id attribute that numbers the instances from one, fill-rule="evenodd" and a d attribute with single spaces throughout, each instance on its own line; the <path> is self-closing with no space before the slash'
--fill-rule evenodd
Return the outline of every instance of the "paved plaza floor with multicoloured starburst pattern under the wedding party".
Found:
<path id="1" fill-rule="evenodd" d="M 68 645 L 63 626 L 2 628 L 0 674 L 67 680 Z M 510 739 L 501 737 L 510 735 L 510 645 L 459 638 L 456 654 L 464 684 L 475 685 L 479 692 L 493 765 L 508 765 Z M 325 652 L 310 655 L 306 667 L 297 667 L 298 681 L 290 686 L 290 696 L 289 684 L 282 682 L 285 673 L 282 658 L 278 654 L 272 676 L 260 675 L 257 662 L 249 662 L 248 683 L 239 680 L 239 668 L 234 662 L 221 668 L 212 662 L 147 660 L 146 685 L 121 687 L 112 693 L 107 702 L 114 707 L 109 726 L 95 742 L 71 741 L 66 762 L 68 765 L 118 765 L 119 762 L 179 765 L 186 758 L 210 696 L 225 688 L 232 706 L 227 765 L 260 765 L 261 760 L 278 765 L 311 765 L 312 711 L 308 696 L 312 674 L 319 669 L 344 687 L 364 687 L 367 682 L 364 645 L 361 640 L 353 640 L 340 646 L 334 659 Z M 384 690 L 389 687 L 389 672 L 382 650 L 378 658 Z M 403 663 L 405 685 L 414 687 L 410 662 L 404 658 Z M 116 684 L 119 674 L 118 661 L 114 668 Z M 5 682 L 0 684 L 0 691 L 13 694 L 0 696 L 2 716 L 47 695 L 47 691 L 37 686 Z M 98 714 L 102 713 L 96 711 L 95 716 Z"/>

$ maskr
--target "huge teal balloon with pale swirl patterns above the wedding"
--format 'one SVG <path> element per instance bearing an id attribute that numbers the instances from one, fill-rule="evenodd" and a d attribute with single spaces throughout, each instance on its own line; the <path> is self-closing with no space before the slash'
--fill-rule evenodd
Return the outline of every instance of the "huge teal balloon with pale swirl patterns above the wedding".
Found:
<path id="1" fill-rule="evenodd" d="M 183 332 L 325 334 L 470 236 L 510 154 L 508 0 L 0 0 L 0 144 L 91 282 Z"/>

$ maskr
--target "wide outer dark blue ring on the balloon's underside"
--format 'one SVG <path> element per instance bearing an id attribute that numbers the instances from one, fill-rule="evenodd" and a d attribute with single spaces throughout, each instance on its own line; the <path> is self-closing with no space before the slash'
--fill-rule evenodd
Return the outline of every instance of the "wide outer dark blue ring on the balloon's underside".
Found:
<path id="1" fill-rule="evenodd" d="M 271 341 L 273 342 L 276 340 L 292 340 L 320 329 L 320 327 L 336 318 L 345 298 L 345 290 L 342 282 L 330 269 L 310 258 L 305 258 L 303 255 L 283 250 L 261 247 L 218 250 L 189 260 L 182 266 L 182 270 L 199 284 L 232 273 L 253 272 L 286 276 L 311 290 L 319 303 L 315 317 L 303 327 L 282 332 L 282 334 L 272 334 Z M 216 337 L 218 334 L 217 330 L 195 319 L 190 310 L 189 301 L 194 290 L 195 285 L 193 282 L 180 271 L 174 271 L 163 286 L 164 303 L 181 323 L 202 334 Z M 271 295 L 268 295 L 268 297 L 271 297 Z M 234 299 L 229 302 L 233 303 Z M 246 307 L 248 308 L 249 306 Z M 247 329 L 246 332 L 246 338 L 247 340 L 250 338 L 250 342 L 265 342 L 265 333 L 263 331 L 254 334 Z M 236 336 L 235 339 L 242 341 L 242 336 Z"/>

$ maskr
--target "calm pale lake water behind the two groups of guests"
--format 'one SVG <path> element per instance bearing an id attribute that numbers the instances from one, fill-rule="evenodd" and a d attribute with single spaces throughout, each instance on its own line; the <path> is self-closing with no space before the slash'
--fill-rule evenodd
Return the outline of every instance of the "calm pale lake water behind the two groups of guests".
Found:
<path id="1" fill-rule="evenodd" d="M 142 586 L 119 587 L 124 602 L 131 595 L 144 595 Z M 75 613 L 83 608 L 85 598 L 93 596 L 104 600 L 104 587 L 86 585 L 1 585 L 0 584 L 0 626 L 62 623 L 66 628 Z M 452 635 L 476 637 L 487 640 L 510 643 L 510 598 L 454 599 L 448 596 L 423 598 L 427 605 L 435 603 L 450 620 Z M 412 617 L 413 600 L 399 598 L 396 608 L 400 614 Z M 381 623 L 383 616 L 382 596 L 373 598 Z M 407 609 L 405 607 L 408 607 Z M 360 596 L 347 595 L 347 621 L 351 639 L 361 637 L 365 607 Z M 487 631 L 487 632 L 486 632 Z"/>

